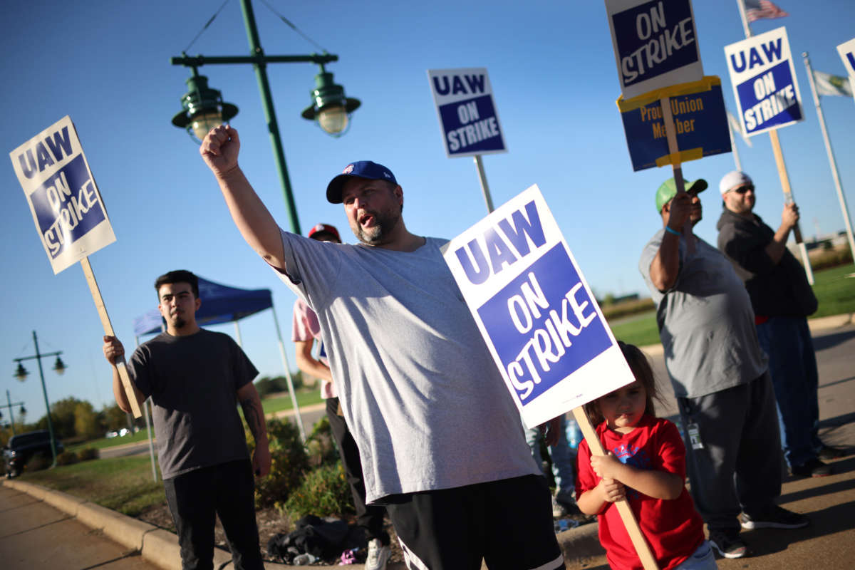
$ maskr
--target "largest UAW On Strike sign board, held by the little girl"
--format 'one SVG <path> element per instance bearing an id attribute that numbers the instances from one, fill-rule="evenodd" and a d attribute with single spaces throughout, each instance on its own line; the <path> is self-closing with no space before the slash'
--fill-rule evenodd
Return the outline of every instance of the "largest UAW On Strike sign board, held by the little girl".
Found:
<path id="1" fill-rule="evenodd" d="M 526 426 L 633 381 L 536 185 L 443 250 Z"/>

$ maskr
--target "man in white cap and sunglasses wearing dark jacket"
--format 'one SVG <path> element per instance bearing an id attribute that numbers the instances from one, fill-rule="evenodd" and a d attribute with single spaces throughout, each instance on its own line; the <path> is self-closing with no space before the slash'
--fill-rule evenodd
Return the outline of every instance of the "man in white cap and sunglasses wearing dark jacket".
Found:
<path id="1" fill-rule="evenodd" d="M 838 450 L 823 445 L 817 434 L 819 403 L 817 356 L 807 315 L 817 310 L 817 297 L 805 269 L 787 250 L 787 238 L 799 221 L 795 203 L 784 204 L 777 230 L 753 213 L 757 195 L 748 174 L 730 172 L 718 185 L 724 208 L 718 220 L 718 249 L 745 282 L 754 309 L 760 347 L 769 356 L 781 420 L 781 447 L 790 472 L 823 477 Z"/>

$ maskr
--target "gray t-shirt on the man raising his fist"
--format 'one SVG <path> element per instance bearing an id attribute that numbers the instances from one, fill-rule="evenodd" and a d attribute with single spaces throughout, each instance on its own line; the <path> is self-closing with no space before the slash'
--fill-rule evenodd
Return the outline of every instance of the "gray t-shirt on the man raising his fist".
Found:
<path id="1" fill-rule="evenodd" d="M 540 473 L 439 252 L 446 240 L 413 252 L 282 242 L 280 279 L 321 324 L 368 502 Z"/>

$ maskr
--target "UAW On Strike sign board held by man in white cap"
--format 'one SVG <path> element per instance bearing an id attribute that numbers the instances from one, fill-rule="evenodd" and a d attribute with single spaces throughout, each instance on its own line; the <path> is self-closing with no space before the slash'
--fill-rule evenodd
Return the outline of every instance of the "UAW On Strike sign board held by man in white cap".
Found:
<path id="1" fill-rule="evenodd" d="M 726 45 L 724 56 L 746 135 L 751 137 L 805 118 L 787 28 Z"/>

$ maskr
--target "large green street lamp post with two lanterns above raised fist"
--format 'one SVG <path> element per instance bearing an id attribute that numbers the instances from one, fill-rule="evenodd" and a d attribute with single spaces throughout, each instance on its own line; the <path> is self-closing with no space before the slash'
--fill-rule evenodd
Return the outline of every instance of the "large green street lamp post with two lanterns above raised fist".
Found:
<path id="1" fill-rule="evenodd" d="M 255 15 L 250 0 L 241 0 L 244 15 L 246 35 L 250 43 L 250 56 L 187 56 L 170 58 L 173 65 L 192 68 L 193 75 L 187 79 L 188 91 L 181 97 L 182 110 L 175 115 L 174 126 L 186 128 L 199 141 L 214 126 L 221 125 L 238 114 L 238 108 L 231 103 L 224 103 L 220 91 L 208 86 L 208 78 L 199 75 L 197 68 L 210 64 L 251 63 L 256 70 L 258 89 L 261 91 L 264 115 L 268 123 L 270 144 L 273 146 L 276 167 L 282 191 L 285 194 L 285 204 L 291 230 L 300 233 L 300 223 L 297 217 L 297 207 L 294 203 L 291 180 L 288 178 L 288 168 L 285 164 L 285 150 L 279 133 L 279 125 L 273 108 L 273 96 L 267 76 L 268 63 L 315 63 L 321 67 L 321 73 L 315 75 L 315 89 L 310 92 L 312 104 L 304 109 L 302 116 L 307 120 L 316 120 L 321 128 L 333 135 L 340 136 L 347 130 L 350 115 L 360 103 L 358 99 L 345 97 L 345 89 L 333 82 L 333 73 L 328 73 L 324 65 L 339 61 L 339 56 L 332 54 L 311 54 L 309 56 L 265 56 L 258 39 Z"/>

